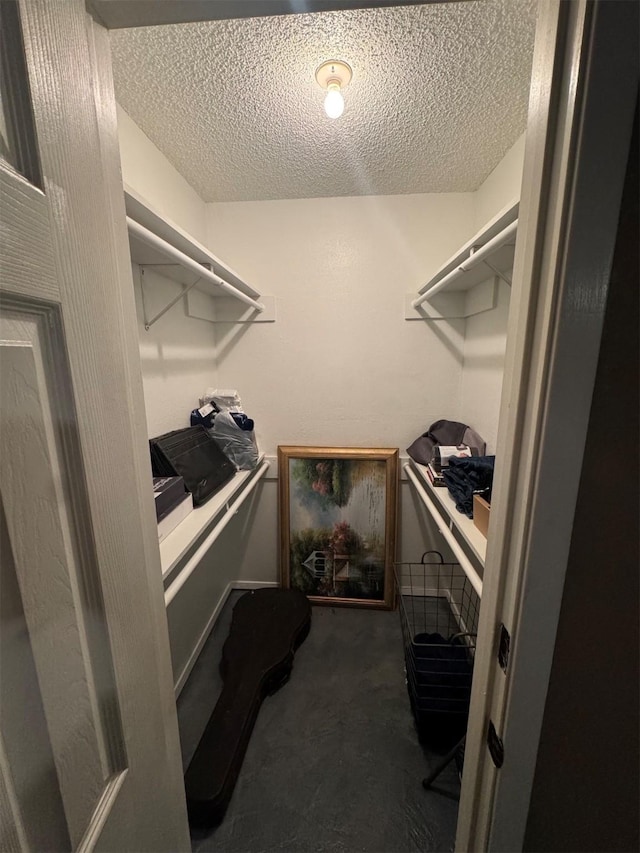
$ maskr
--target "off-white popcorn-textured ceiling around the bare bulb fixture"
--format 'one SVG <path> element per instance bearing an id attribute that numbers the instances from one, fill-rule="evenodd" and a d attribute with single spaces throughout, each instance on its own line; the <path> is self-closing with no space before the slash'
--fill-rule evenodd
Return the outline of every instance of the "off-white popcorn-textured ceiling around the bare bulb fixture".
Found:
<path id="1" fill-rule="evenodd" d="M 471 0 L 114 30 L 116 97 L 205 201 L 467 192 L 524 130 L 534 29 Z"/>

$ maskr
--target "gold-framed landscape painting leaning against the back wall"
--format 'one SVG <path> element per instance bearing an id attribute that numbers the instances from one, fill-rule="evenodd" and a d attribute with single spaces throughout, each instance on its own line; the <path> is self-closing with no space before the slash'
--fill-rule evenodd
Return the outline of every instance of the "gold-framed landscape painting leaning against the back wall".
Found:
<path id="1" fill-rule="evenodd" d="M 278 486 L 282 585 L 393 608 L 398 449 L 278 447 Z"/>

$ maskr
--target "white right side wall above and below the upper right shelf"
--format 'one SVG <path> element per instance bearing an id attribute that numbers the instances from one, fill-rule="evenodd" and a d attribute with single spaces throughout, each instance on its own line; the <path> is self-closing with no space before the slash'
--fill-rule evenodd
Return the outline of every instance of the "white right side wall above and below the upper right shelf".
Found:
<path id="1" fill-rule="evenodd" d="M 523 134 L 473 194 L 476 232 L 519 198 L 524 139 Z M 461 384 L 460 420 L 485 439 L 487 453 L 496 450 L 509 318 L 510 289 L 503 281 L 498 287 L 498 307 L 466 322 Z"/>

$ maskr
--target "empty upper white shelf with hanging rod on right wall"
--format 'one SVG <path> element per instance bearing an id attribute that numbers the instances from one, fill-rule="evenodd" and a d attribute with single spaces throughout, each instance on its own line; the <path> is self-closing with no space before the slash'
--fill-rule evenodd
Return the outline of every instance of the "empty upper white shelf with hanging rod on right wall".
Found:
<path id="1" fill-rule="evenodd" d="M 468 262 L 473 257 L 472 252 L 477 251 L 482 246 L 485 246 L 494 237 L 497 237 L 502 231 L 512 225 L 518 219 L 519 201 L 514 201 L 498 213 L 490 220 L 484 228 L 467 241 L 449 260 L 443 264 L 440 269 L 424 284 L 418 291 L 419 295 L 431 290 L 435 285 L 439 284 L 447 275 Z M 499 248 L 496 248 L 486 260 L 491 266 L 501 273 L 507 273 L 513 269 L 513 256 L 515 252 L 515 233 L 509 238 L 508 242 Z M 460 276 L 454 278 L 446 289 L 451 291 L 470 290 L 483 281 L 486 281 L 492 275 L 492 271 L 483 263 L 474 266 L 469 270 L 463 270 Z"/>

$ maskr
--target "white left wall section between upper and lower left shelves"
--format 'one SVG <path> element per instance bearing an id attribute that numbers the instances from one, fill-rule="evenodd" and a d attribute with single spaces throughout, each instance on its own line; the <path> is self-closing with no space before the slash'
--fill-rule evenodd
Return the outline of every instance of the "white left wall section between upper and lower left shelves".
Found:
<path id="1" fill-rule="evenodd" d="M 140 363 L 149 437 L 189 426 L 189 413 L 209 386 L 216 386 L 215 340 L 211 323 L 185 314 L 180 300 L 145 331 L 140 267 L 132 265 L 140 336 Z M 145 299 L 149 313 L 166 305 L 182 285 L 147 267 Z"/>

